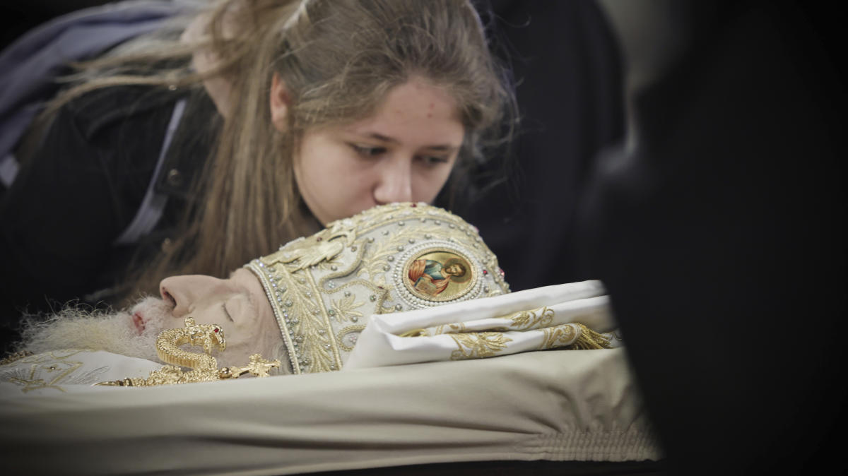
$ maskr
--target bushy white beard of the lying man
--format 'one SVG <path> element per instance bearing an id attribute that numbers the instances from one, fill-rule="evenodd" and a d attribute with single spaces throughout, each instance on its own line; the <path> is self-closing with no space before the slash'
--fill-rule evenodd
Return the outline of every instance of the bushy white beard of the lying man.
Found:
<path id="1" fill-rule="evenodd" d="M 132 313 L 138 308 L 144 310 L 145 317 L 141 334 L 132 323 Z M 155 342 L 159 332 L 165 330 L 165 317 L 170 317 L 170 306 L 155 297 L 142 298 L 130 310 L 114 313 L 67 307 L 44 321 L 25 319 L 19 348 L 36 354 L 92 349 L 159 362 Z"/>

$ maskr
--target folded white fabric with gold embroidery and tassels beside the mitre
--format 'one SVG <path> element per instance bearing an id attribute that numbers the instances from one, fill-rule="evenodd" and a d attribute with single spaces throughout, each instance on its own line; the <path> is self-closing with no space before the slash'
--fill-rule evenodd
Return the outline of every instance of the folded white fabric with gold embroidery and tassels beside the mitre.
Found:
<path id="1" fill-rule="evenodd" d="M 600 281 L 372 315 L 343 370 L 621 346 Z"/>

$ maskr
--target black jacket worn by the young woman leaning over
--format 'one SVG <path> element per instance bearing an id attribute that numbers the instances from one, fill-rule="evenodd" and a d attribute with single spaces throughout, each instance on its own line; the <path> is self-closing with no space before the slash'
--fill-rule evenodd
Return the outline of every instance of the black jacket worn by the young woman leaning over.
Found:
<path id="1" fill-rule="evenodd" d="M 204 125 L 217 118 L 204 92 L 147 86 L 94 91 L 61 108 L 0 203 L 4 324 L 20 310 L 113 297 L 95 291 L 174 234 L 214 140 Z"/>

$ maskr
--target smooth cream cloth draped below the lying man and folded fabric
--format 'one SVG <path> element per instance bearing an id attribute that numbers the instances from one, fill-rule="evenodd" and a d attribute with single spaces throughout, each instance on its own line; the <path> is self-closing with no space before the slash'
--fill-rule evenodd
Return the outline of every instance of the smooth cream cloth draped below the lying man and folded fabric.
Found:
<path id="1" fill-rule="evenodd" d="M 256 475 L 661 457 L 622 349 L 43 391 L 0 396 L 4 472 Z"/>

